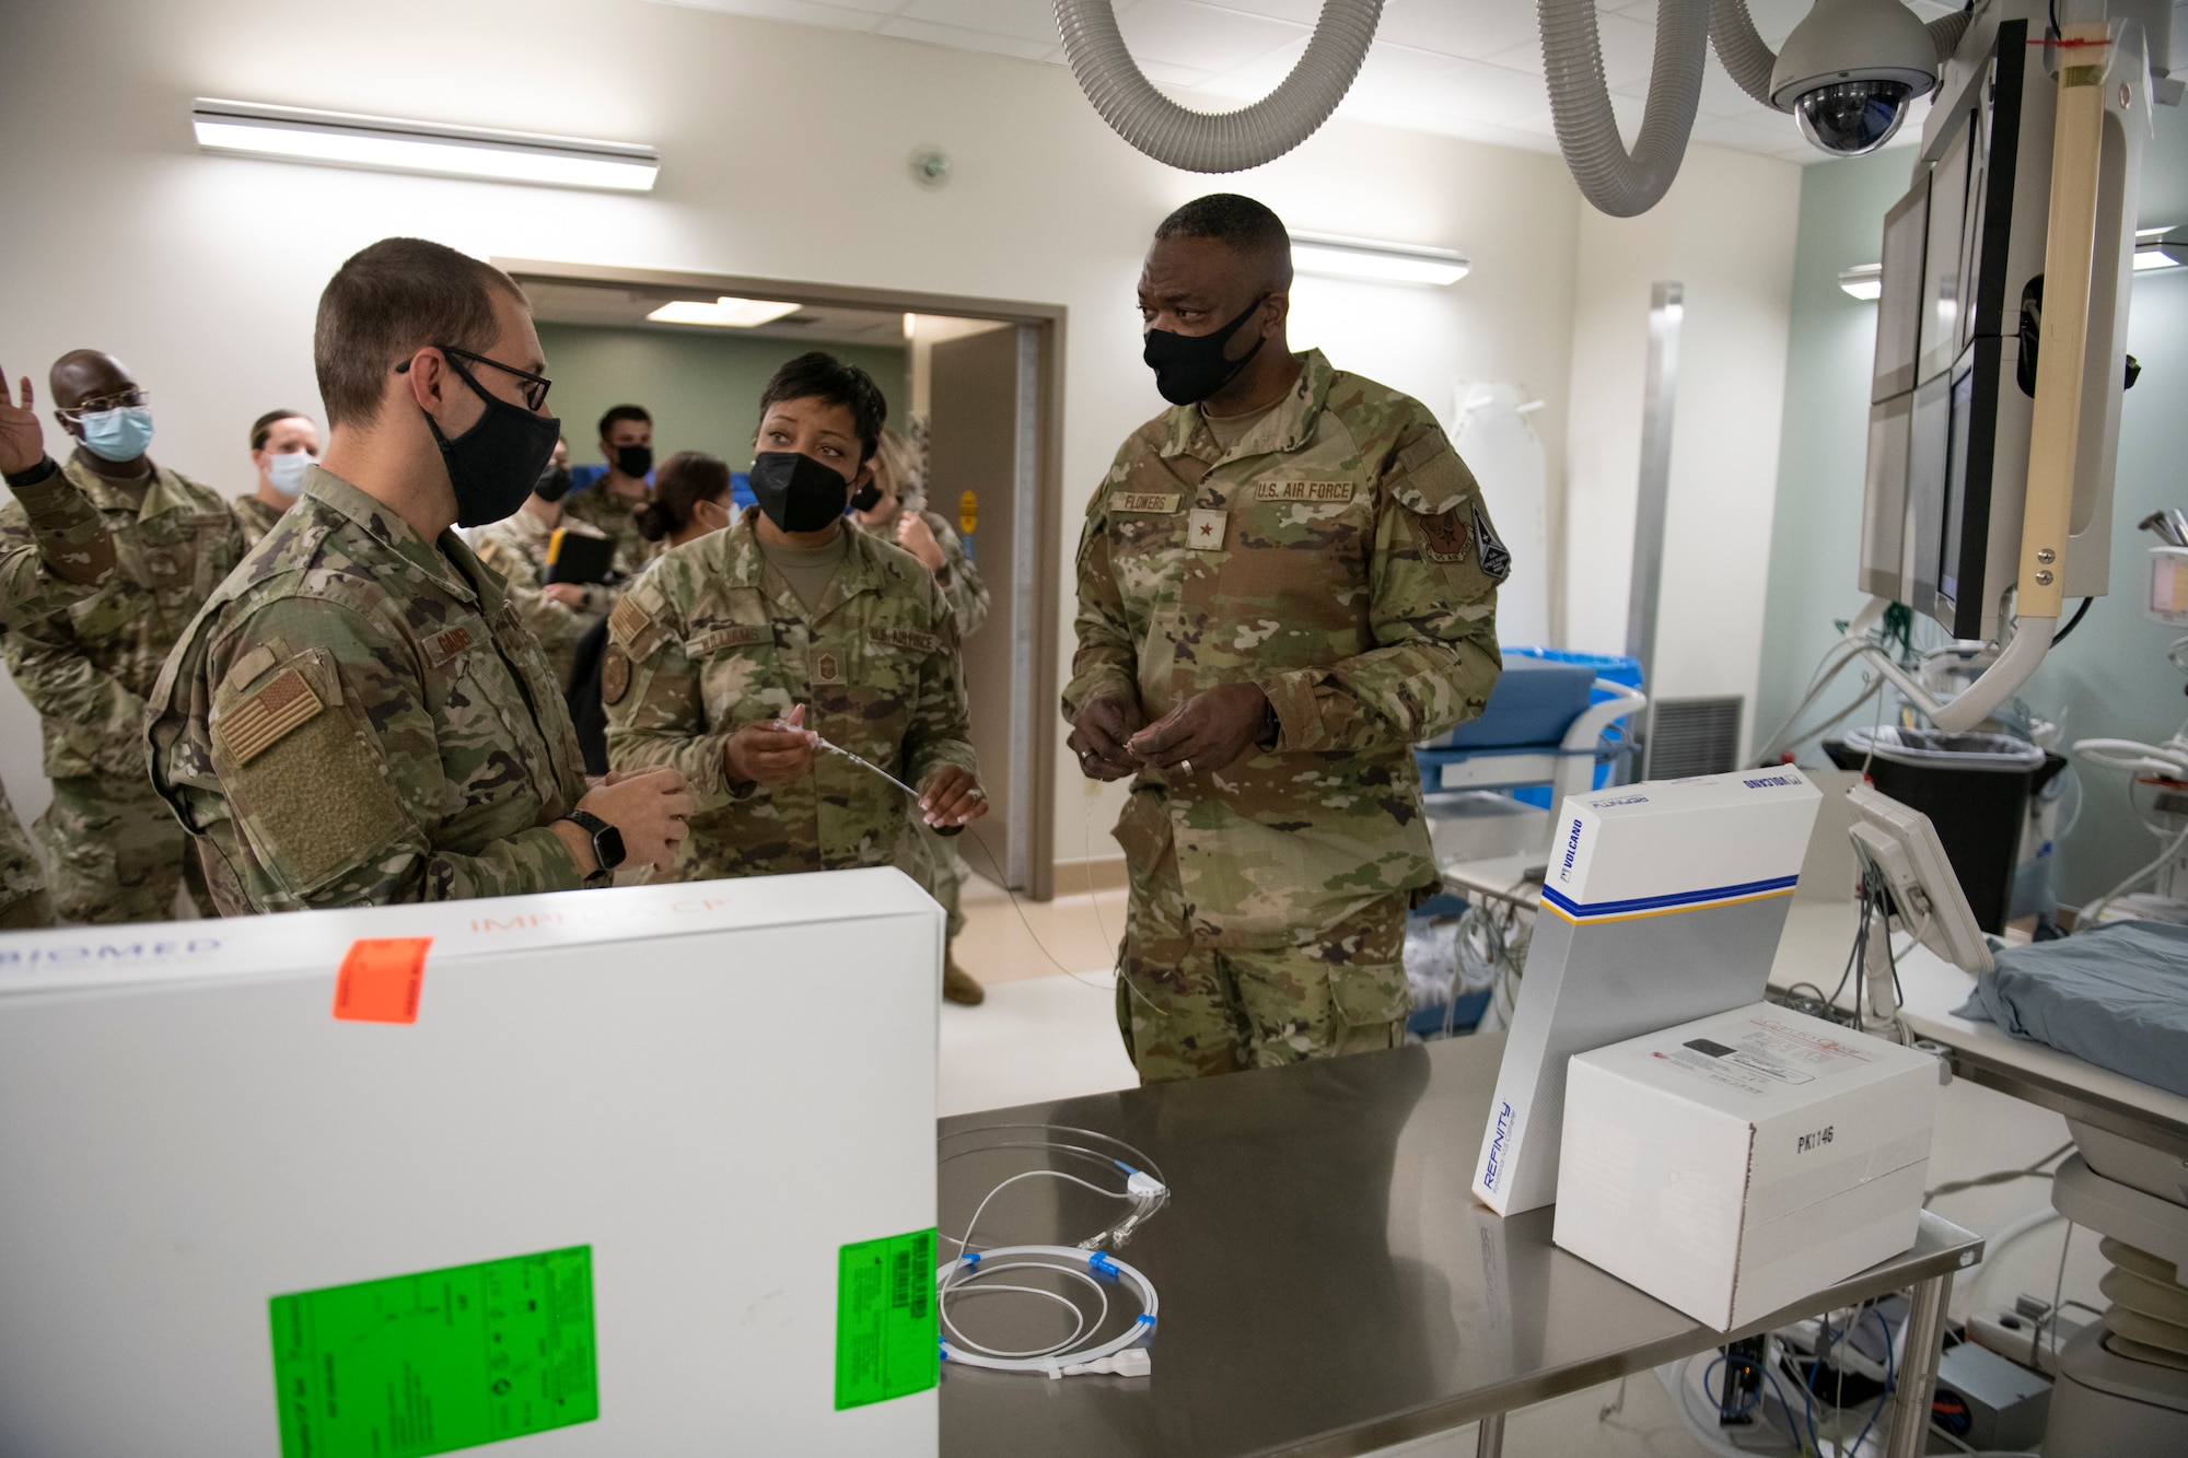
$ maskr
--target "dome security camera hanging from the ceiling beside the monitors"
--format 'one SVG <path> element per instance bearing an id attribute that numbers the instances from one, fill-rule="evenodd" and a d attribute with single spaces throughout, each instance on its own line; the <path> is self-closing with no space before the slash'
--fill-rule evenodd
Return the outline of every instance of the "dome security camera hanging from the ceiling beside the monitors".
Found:
<path id="1" fill-rule="evenodd" d="M 1936 85 L 1936 42 L 1899 0 L 1816 0 L 1779 50 L 1770 105 L 1840 158 L 1875 151 Z"/>

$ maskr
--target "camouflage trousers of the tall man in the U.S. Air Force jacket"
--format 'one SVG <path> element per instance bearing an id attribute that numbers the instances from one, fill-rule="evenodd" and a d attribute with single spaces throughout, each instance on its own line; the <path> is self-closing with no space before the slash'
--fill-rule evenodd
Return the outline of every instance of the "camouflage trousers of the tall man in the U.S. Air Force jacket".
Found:
<path id="1" fill-rule="evenodd" d="M 1217 950 L 1192 930 L 1173 847 L 1129 876 L 1116 1025 L 1142 1084 L 1405 1042 L 1405 893 L 1291 946 Z"/>

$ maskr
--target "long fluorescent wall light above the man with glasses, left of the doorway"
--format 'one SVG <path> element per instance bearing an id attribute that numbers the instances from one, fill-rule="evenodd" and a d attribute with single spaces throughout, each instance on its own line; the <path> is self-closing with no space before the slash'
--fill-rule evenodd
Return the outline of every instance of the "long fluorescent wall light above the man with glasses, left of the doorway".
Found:
<path id="1" fill-rule="evenodd" d="M 190 112 L 197 144 L 247 158 L 284 158 L 383 173 L 490 177 L 556 188 L 645 193 L 661 158 L 652 147 L 573 136 L 442 127 L 392 116 L 306 112 L 247 101 L 199 99 Z"/>

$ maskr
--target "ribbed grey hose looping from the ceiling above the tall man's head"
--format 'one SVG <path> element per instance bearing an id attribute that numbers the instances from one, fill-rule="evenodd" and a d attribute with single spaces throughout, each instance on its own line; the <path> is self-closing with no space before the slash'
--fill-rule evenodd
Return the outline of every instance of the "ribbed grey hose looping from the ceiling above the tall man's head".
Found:
<path id="1" fill-rule="evenodd" d="M 1383 0 L 1322 0 L 1306 53 L 1273 92 L 1236 112 L 1182 107 L 1140 72 L 1112 0 L 1055 0 L 1063 57 L 1120 138 L 1188 173 L 1241 173 L 1311 138 L 1352 90 Z"/>

